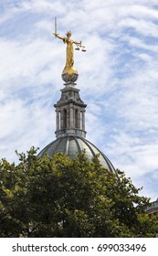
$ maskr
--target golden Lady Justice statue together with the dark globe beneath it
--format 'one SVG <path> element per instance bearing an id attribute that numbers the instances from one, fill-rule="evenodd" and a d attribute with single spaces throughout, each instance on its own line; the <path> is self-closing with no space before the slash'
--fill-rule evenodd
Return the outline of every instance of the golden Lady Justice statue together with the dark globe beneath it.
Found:
<path id="1" fill-rule="evenodd" d="M 66 66 L 62 71 L 62 79 L 66 82 L 74 82 L 78 79 L 78 70 L 73 67 L 74 58 L 73 58 L 73 44 L 77 46 L 77 50 L 81 49 L 82 51 L 86 51 L 85 47 L 82 46 L 81 41 L 77 42 L 72 40 L 71 32 L 67 32 L 67 37 L 60 37 L 57 33 L 57 18 L 55 17 L 55 33 L 53 33 L 55 37 L 63 40 L 64 44 L 67 43 L 67 52 L 66 52 Z"/>

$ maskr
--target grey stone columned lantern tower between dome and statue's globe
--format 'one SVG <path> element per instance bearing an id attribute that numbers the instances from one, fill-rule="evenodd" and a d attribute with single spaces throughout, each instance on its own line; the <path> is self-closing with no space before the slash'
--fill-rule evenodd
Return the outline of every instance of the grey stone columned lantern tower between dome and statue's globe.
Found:
<path id="1" fill-rule="evenodd" d="M 56 137 L 76 135 L 85 138 L 85 109 L 86 104 L 79 97 L 79 89 L 75 83 L 65 84 L 61 90 L 61 98 L 55 104 L 56 108 Z"/>

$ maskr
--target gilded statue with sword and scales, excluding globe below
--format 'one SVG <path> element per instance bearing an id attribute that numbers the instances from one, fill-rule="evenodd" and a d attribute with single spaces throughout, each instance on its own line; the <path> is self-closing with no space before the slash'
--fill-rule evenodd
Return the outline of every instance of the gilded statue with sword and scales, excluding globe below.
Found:
<path id="1" fill-rule="evenodd" d="M 73 45 L 76 45 L 76 49 L 81 49 L 82 51 L 86 51 L 85 47 L 82 46 L 81 41 L 74 41 L 71 39 L 71 32 L 67 32 L 67 37 L 60 37 L 57 33 L 57 18 L 55 18 L 55 33 L 53 33 L 55 37 L 58 37 L 59 39 L 63 40 L 64 44 L 67 44 L 67 51 L 66 51 L 66 66 L 63 69 L 62 73 L 68 73 L 68 75 L 71 74 L 78 74 L 78 70 L 73 67 L 74 64 L 74 53 L 73 53 Z"/>

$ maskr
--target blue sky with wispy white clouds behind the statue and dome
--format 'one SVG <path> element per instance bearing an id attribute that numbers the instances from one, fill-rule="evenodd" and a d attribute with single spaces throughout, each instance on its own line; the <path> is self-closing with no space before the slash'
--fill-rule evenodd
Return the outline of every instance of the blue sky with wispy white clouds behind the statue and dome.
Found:
<path id="1" fill-rule="evenodd" d="M 157 0 L 0 0 L 0 158 L 55 140 L 54 103 L 64 85 L 66 46 L 52 35 L 72 31 L 77 87 L 88 104 L 87 139 L 158 197 Z"/>

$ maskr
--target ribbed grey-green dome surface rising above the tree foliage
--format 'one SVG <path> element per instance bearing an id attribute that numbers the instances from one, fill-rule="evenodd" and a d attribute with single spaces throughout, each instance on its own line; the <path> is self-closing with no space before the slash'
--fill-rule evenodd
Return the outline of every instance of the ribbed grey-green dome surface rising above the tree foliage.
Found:
<path id="1" fill-rule="evenodd" d="M 86 150 L 86 156 L 89 160 L 91 160 L 94 155 L 100 154 L 100 164 L 105 168 L 108 168 L 111 172 L 114 171 L 114 167 L 107 156 L 102 154 L 94 144 L 91 144 L 89 141 L 79 136 L 68 135 L 58 138 L 54 142 L 48 144 L 38 154 L 38 156 L 42 157 L 43 155 L 47 154 L 51 157 L 55 153 L 62 152 L 64 154 L 68 154 L 70 158 L 74 158 L 76 157 L 76 154 L 80 154 L 83 149 Z"/>

